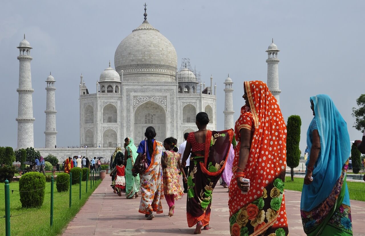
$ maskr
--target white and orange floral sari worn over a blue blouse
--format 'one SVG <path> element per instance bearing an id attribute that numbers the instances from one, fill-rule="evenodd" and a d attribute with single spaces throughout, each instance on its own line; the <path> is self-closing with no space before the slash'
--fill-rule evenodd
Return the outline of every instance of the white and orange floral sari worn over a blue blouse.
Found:
<path id="1" fill-rule="evenodd" d="M 164 198 L 162 186 L 162 143 L 154 140 L 151 164 L 145 173 L 140 174 L 141 181 L 141 203 L 139 213 L 150 214 L 151 212 L 162 213 L 161 199 Z"/>

